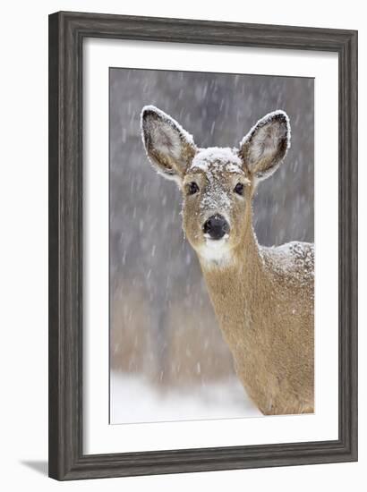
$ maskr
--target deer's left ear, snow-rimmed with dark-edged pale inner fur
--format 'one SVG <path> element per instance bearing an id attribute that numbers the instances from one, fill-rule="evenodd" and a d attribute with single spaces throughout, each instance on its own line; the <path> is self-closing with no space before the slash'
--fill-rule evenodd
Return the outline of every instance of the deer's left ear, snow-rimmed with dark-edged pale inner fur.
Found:
<path id="1" fill-rule="evenodd" d="M 196 152 L 192 135 L 155 106 L 143 107 L 141 132 L 149 160 L 158 173 L 181 183 Z"/>

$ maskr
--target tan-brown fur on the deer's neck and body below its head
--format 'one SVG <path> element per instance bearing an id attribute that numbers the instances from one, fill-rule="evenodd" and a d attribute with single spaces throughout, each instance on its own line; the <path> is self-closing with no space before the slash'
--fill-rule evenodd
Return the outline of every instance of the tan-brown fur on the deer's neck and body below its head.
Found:
<path id="1" fill-rule="evenodd" d="M 286 272 L 274 251 L 257 244 L 250 204 L 245 223 L 244 242 L 233 262 L 208 267 L 201 260 L 219 326 L 238 377 L 260 411 L 312 412 L 312 262 L 300 282 L 296 262 Z"/>

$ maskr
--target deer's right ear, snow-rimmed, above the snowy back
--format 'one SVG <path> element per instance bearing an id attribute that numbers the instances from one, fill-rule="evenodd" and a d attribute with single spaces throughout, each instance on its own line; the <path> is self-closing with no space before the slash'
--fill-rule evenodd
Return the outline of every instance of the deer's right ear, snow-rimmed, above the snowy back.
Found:
<path id="1" fill-rule="evenodd" d="M 277 110 L 261 118 L 243 137 L 240 155 L 243 165 L 256 180 L 268 178 L 286 157 L 291 127 L 284 111 Z"/>

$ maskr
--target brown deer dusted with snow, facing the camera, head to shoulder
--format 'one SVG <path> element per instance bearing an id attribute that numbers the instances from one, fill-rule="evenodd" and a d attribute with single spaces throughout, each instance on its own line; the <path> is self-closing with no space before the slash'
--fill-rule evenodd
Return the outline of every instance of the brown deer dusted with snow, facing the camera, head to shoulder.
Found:
<path id="1" fill-rule="evenodd" d="M 239 148 L 198 148 L 155 106 L 141 128 L 151 164 L 183 192 L 183 230 L 247 393 L 264 414 L 312 412 L 313 244 L 260 246 L 252 226 L 256 186 L 289 148 L 288 116 L 264 116 Z"/>

